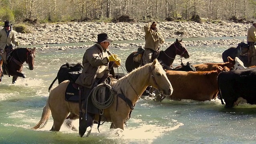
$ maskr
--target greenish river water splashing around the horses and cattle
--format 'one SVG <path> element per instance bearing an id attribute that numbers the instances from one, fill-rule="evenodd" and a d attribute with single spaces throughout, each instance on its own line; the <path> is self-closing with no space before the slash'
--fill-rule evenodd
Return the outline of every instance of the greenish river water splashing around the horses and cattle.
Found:
<path id="1" fill-rule="evenodd" d="M 187 47 L 191 57 L 183 62 L 200 64 L 222 62 L 221 54 L 228 46 Z M 118 54 L 122 64 L 137 48 L 110 48 Z M 58 69 L 66 62 L 82 62 L 86 48 L 36 51 L 35 68 L 24 67 L 25 79 L 16 84 L 4 76 L 0 83 L 0 144 L 255 144 L 256 107 L 241 104 L 225 109 L 220 100 L 139 100 L 128 127 L 110 130 L 110 123 L 92 128 L 87 138 L 62 126 L 60 132 L 49 131 L 53 120 L 45 128 L 33 130 L 41 118 L 48 98 L 48 86 Z M 178 57 L 176 57 L 178 58 Z M 180 59 L 174 60 L 174 66 Z M 26 65 L 26 64 L 25 64 Z M 119 69 L 122 72 L 122 69 Z M 54 84 L 54 87 L 57 86 Z M 74 121 L 78 128 L 78 120 Z"/>

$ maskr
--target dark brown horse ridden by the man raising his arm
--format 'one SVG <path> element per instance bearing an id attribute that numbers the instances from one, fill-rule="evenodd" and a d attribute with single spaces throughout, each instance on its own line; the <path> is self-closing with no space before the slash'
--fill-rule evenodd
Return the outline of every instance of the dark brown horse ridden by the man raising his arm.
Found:
<path id="1" fill-rule="evenodd" d="M 128 72 L 131 72 L 132 70 L 140 66 L 140 62 L 134 62 L 133 60 L 135 53 L 136 52 L 132 52 L 132 54 L 130 54 L 125 61 L 125 67 Z M 182 44 L 182 39 L 176 39 L 176 42 L 171 44 L 169 48 L 167 48 L 164 51 L 160 51 L 160 54 L 157 59 L 161 62 L 161 64 L 164 65 L 164 69 L 170 70 L 176 55 L 179 55 L 184 58 L 190 57 L 190 54 L 185 48 L 185 45 Z"/>

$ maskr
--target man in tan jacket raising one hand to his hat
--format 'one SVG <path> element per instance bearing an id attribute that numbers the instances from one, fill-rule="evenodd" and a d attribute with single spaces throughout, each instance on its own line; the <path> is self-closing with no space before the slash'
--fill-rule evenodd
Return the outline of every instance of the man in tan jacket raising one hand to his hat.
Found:
<path id="1" fill-rule="evenodd" d="M 152 57 L 159 51 L 160 44 L 164 43 L 164 38 L 161 32 L 156 28 L 156 22 L 148 22 L 144 26 L 145 31 L 145 51 L 143 54 L 143 63 L 152 62 Z"/>

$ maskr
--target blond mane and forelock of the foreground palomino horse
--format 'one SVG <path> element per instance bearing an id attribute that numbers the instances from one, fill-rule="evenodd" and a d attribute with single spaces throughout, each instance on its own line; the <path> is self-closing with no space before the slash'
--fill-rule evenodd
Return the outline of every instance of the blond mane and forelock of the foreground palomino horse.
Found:
<path id="1" fill-rule="evenodd" d="M 126 76 L 120 78 L 115 84 L 113 84 L 113 87 L 115 88 L 116 92 L 118 93 L 126 93 L 127 90 L 129 90 L 130 86 L 134 84 L 134 82 L 138 82 L 138 79 L 144 78 L 148 74 L 150 74 L 150 66 L 152 66 L 152 63 L 146 64 L 144 66 L 138 67 L 134 69 L 132 72 L 127 74 Z M 160 68 L 162 68 L 161 64 L 159 62 L 156 62 L 156 68 L 155 71 L 159 71 Z"/>

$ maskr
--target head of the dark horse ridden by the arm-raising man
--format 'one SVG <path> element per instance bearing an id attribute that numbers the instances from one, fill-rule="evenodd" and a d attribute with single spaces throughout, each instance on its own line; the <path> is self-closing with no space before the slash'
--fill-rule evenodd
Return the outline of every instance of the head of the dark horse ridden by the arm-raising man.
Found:
<path id="1" fill-rule="evenodd" d="M 178 40 L 178 38 L 176 38 L 176 42 L 174 42 L 173 45 L 176 48 L 176 55 L 179 55 L 184 58 L 190 57 L 188 50 L 185 48 L 185 45 L 182 43 L 182 39 Z"/>

